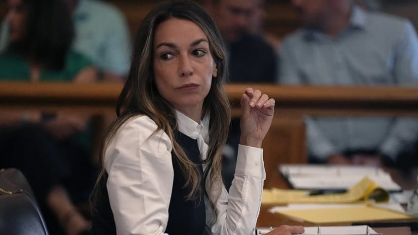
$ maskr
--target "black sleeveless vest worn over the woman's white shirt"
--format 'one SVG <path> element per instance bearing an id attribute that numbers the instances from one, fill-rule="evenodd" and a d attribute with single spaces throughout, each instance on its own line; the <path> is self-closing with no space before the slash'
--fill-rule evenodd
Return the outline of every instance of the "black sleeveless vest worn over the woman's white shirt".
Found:
<path id="1" fill-rule="evenodd" d="M 197 140 L 178 132 L 176 141 L 184 149 L 187 157 L 198 166 L 203 182 L 203 168 Z M 165 233 L 169 235 L 207 234 L 203 188 L 201 188 L 200 194 L 197 194 L 192 200 L 187 201 L 186 196 L 190 192 L 190 188 L 184 187 L 186 179 L 183 176 L 174 152 L 172 152 L 172 161 L 174 180 L 169 206 L 169 221 Z M 110 208 L 106 182 L 107 174 L 100 182 L 101 197 L 96 201 L 96 206 L 93 209 L 93 235 L 116 235 L 116 226 Z"/>

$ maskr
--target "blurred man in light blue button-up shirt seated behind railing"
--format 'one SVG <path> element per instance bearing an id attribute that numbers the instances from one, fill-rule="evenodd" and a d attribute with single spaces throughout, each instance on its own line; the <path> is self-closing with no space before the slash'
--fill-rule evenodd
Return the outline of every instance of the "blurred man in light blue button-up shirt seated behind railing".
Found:
<path id="1" fill-rule="evenodd" d="M 410 21 L 352 0 L 293 0 L 302 28 L 280 48 L 278 82 L 291 85 L 416 86 L 418 39 Z M 307 118 L 311 162 L 417 164 L 415 118 Z"/>

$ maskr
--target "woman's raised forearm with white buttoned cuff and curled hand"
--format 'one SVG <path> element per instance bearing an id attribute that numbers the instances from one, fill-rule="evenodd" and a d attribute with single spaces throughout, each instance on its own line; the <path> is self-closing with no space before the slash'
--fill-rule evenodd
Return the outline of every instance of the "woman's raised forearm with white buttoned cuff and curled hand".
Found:
<path id="1" fill-rule="evenodd" d="M 223 187 L 216 203 L 218 218 L 212 233 L 249 235 L 255 229 L 265 179 L 261 144 L 274 113 L 273 99 L 247 88 L 241 99 L 241 138 L 234 180 L 227 194 Z"/>

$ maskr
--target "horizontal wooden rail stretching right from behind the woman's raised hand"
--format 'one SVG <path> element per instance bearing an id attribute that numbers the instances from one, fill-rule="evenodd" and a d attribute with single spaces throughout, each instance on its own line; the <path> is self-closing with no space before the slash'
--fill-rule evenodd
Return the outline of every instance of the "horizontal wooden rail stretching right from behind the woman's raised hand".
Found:
<path id="1" fill-rule="evenodd" d="M 239 104 L 246 87 L 260 89 L 275 99 L 275 113 L 282 118 L 418 116 L 418 89 L 414 87 L 230 84 L 226 92 L 234 104 Z"/>

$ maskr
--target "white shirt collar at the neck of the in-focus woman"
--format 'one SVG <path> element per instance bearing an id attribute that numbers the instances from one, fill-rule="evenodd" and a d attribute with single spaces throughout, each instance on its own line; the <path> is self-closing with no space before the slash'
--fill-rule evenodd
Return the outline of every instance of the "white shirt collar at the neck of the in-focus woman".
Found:
<path id="1" fill-rule="evenodd" d="M 189 136 L 192 139 L 197 139 L 199 134 L 202 135 L 205 142 L 209 142 L 209 116 L 206 116 L 200 123 L 187 117 L 182 112 L 175 110 L 177 115 L 178 131 Z"/>

